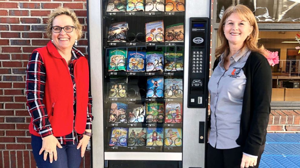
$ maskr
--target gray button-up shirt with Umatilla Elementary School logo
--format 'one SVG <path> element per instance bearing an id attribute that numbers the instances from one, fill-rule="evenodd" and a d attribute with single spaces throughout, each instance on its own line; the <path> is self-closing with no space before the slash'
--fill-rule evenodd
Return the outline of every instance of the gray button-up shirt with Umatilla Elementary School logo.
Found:
<path id="1" fill-rule="evenodd" d="M 240 120 L 246 76 L 242 70 L 251 51 L 238 51 L 230 58 L 230 66 L 224 69 L 224 53 L 208 82 L 210 93 L 211 129 L 209 143 L 217 149 L 239 147 Z"/>

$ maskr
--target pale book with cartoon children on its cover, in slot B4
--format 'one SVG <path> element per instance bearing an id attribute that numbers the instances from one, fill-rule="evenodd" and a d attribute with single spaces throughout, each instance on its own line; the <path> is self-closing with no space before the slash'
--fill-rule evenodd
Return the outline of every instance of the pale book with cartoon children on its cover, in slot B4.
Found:
<path id="1" fill-rule="evenodd" d="M 164 42 L 164 21 L 146 23 L 146 42 Z"/>

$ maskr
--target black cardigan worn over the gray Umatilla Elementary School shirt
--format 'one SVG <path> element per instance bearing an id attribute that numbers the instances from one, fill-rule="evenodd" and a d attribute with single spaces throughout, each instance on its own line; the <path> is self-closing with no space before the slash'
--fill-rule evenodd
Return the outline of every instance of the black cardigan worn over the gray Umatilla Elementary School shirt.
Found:
<path id="1" fill-rule="evenodd" d="M 220 57 L 214 62 L 217 67 Z M 267 126 L 271 111 L 272 72 L 267 59 L 251 52 L 243 67 L 247 81 L 243 95 L 240 135 L 236 143 L 243 152 L 259 156 L 259 149 L 266 143 Z M 210 127 L 210 118 L 208 121 Z"/>

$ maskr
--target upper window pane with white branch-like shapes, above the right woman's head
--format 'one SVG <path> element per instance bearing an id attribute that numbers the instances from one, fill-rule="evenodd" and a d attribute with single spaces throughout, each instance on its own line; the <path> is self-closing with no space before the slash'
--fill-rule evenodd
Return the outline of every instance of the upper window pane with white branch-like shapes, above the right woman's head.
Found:
<path id="1" fill-rule="evenodd" d="M 248 6 L 258 22 L 299 22 L 300 3 L 290 0 L 232 0 L 217 2 L 217 23 L 224 11 L 232 4 Z"/>

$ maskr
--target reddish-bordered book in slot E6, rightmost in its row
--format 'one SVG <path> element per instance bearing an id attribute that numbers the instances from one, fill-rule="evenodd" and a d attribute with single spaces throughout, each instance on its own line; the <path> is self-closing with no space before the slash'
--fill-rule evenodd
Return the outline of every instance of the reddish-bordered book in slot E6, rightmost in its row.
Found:
<path id="1" fill-rule="evenodd" d="M 182 123 L 182 101 L 165 102 L 165 123 Z"/>

